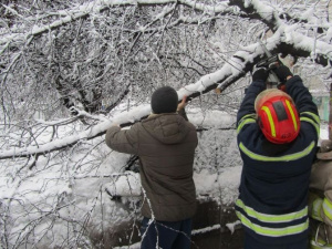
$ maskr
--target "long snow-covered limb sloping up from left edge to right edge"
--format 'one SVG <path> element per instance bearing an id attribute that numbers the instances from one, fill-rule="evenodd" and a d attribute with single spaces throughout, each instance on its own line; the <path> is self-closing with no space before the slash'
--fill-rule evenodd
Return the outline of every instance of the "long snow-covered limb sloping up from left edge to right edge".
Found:
<path id="1" fill-rule="evenodd" d="M 288 44 L 292 44 L 292 48 L 304 50 L 308 53 L 312 51 L 313 40 L 304 37 L 300 33 L 289 30 L 289 27 L 281 27 L 278 32 L 276 32 L 271 38 L 266 40 L 266 46 L 270 51 L 282 52 L 283 43 L 281 41 L 287 41 Z M 283 38 L 283 39 L 282 39 Z M 317 55 L 322 54 L 322 56 L 328 56 L 329 60 L 332 60 L 332 45 L 324 42 L 317 43 Z M 234 56 L 226 62 L 220 70 L 207 74 L 200 77 L 196 83 L 188 84 L 178 90 L 179 100 L 187 95 L 189 98 L 195 98 L 200 96 L 204 93 L 207 93 L 216 87 L 220 89 L 221 92 L 225 91 L 229 85 L 235 83 L 237 80 L 242 77 L 252 65 L 257 63 L 261 58 L 264 56 L 263 49 L 259 42 L 253 43 L 249 46 L 242 48 L 241 51 L 238 51 Z M 0 159 L 11 158 L 11 157 L 25 157 L 31 155 L 41 155 L 50 153 L 53 151 L 59 151 L 76 144 L 80 141 L 92 139 L 97 136 L 105 134 L 106 129 L 112 124 L 120 124 L 126 126 L 133 124 L 143 117 L 147 116 L 151 113 L 149 105 L 141 105 L 127 112 L 124 112 L 117 116 L 114 116 L 111 121 L 106 120 L 102 115 L 93 116 L 85 112 L 80 112 L 80 115 L 93 120 L 100 120 L 98 124 L 87 128 L 84 132 L 81 132 L 75 135 L 68 136 L 65 138 L 59 138 L 52 141 L 48 144 L 40 146 L 29 146 L 25 148 L 13 148 L 9 151 L 0 152 Z"/>

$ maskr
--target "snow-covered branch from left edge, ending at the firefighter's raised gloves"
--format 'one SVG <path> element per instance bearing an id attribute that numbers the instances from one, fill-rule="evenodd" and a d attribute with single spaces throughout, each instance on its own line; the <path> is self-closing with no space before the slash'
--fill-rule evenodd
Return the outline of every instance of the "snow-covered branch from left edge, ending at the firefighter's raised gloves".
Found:
<path id="1" fill-rule="evenodd" d="M 225 81 L 226 83 L 224 83 L 222 89 L 226 89 L 227 87 L 225 86 L 226 84 L 229 85 L 236 82 L 237 80 L 239 80 L 241 76 L 243 76 L 243 74 L 246 73 L 246 68 L 251 68 L 253 61 L 259 60 L 259 58 L 262 55 L 262 50 L 259 49 L 257 44 L 245 49 L 247 51 L 243 50 L 241 52 L 236 53 L 235 56 L 229 62 L 225 63 L 220 70 L 203 76 L 194 84 L 189 84 L 179 89 L 178 90 L 179 100 L 181 100 L 184 95 L 187 95 L 189 98 L 200 96 L 203 93 L 207 93 L 211 90 L 215 90 L 219 83 Z M 101 118 L 101 116 L 94 117 L 92 115 L 87 115 L 85 112 L 81 112 L 81 113 L 82 115 L 84 114 L 86 115 L 86 117 L 93 117 L 94 120 Z M 149 113 L 151 113 L 149 105 L 141 105 L 133 110 L 129 110 L 127 112 L 114 116 L 112 121 L 106 120 L 75 135 L 66 136 L 64 138 L 59 138 L 40 146 L 29 146 L 24 148 L 12 148 L 8 151 L 2 151 L 0 152 L 0 159 L 11 158 L 11 157 L 27 157 L 30 155 L 42 155 L 45 153 L 59 151 L 72 146 L 80 141 L 92 139 L 97 136 L 101 136 L 105 134 L 105 132 L 112 124 L 124 125 L 124 126 L 128 124 L 133 124 L 142 120 L 143 117 L 147 116 Z M 105 118 L 103 117 L 102 120 Z M 52 123 L 49 122 L 49 124 Z"/>

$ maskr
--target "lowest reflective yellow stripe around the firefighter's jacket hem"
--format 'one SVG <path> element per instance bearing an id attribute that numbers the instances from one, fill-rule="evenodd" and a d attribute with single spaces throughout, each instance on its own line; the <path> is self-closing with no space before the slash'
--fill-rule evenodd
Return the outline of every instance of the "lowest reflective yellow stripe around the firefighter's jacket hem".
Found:
<path id="1" fill-rule="evenodd" d="M 236 211 L 236 214 L 237 214 L 238 218 L 241 220 L 243 226 L 250 228 L 258 235 L 262 235 L 262 236 L 281 237 L 281 236 L 297 235 L 302 231 L 305 231 L 309 227 L 309 221 L 307 219 L 305 222 L 295 225 L 295 226 L 289 226 L 289 227 L 283 227 L 283 228 L 269 228 L 269 227 L 263 227 L 263 226 L 251 222 L 246 216 L 243 216 L 239 211 Z"/>

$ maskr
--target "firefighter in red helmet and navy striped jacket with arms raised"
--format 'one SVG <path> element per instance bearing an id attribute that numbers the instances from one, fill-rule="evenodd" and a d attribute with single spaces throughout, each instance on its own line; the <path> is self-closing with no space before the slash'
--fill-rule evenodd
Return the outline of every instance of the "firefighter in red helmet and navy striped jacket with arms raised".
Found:
<path id="1" fill-rule="evenodd" d="M 308 248 L 308 190 L 320 120 L 302 80 L 281 65 L 282 90 L 266 90 L 267 69 L 252 74 L 237 115 L 243 162 L 236 212 L 245 249 Z"/>

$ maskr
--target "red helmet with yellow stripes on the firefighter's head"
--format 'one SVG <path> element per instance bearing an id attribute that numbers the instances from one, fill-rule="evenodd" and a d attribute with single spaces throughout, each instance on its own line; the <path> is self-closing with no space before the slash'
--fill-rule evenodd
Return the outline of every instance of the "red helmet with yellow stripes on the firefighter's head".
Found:
<path id="1" fill-rule="evenodd" d="M 291 96 L 283 91 L 261 92 L 256 97 L 255 111 L 263 135 L 271 143 L 287 144 L 299 135 L 299 113 Z"/>

